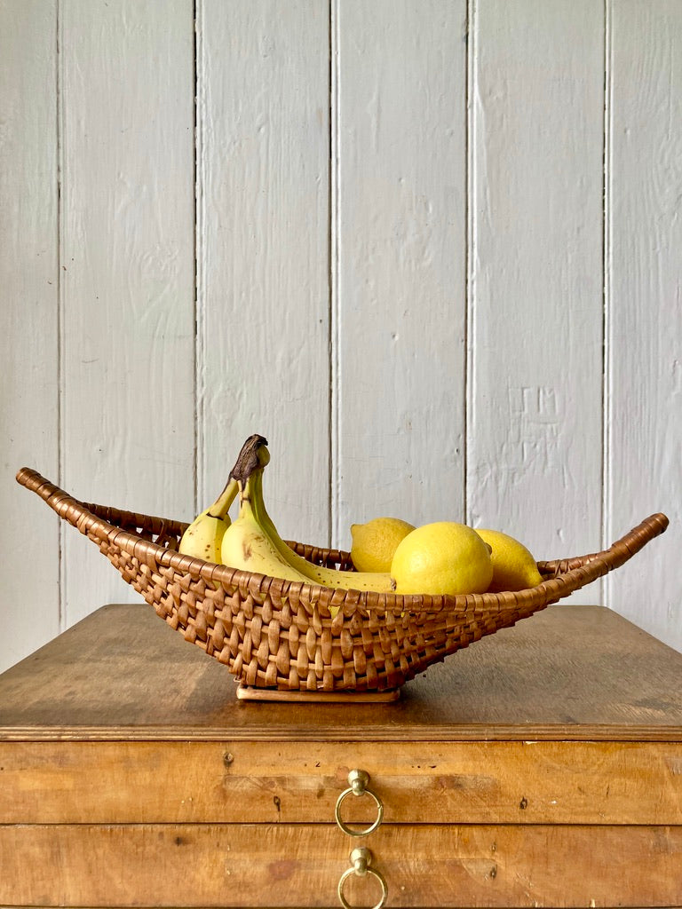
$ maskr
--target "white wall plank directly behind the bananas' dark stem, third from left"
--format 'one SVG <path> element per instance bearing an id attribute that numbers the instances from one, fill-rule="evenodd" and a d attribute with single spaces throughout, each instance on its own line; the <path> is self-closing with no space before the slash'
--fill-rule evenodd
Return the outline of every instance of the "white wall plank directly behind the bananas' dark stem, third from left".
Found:
<path id="1" fill-rule="evenodd" d="M 329 10 L 198 4 L 199 505 L 266 435 L 281 534 L 329 535 Z"/>

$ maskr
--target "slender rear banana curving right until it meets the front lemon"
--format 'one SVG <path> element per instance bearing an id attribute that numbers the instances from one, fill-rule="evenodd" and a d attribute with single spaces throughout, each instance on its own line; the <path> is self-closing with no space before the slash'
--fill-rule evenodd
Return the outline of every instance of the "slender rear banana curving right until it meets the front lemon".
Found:
<path id="1" fill-rule="evenodd" d="M 263 499 L 263 469 L 270 460 L 263 436 L 251 436 L 254 452 L 252 455 L 252 469 L 246 480 L 246 494 L 250 499 L 251 514 L 269 538 L 276 552 L 296 572 L 303 574 L 308 583 L 320 584 L 323 587 L 335 587 L 343 590 L 376 591 L 377 593 L 390 593 L 392 591 L 391 576 L 384 572 L 355 572 L 336 571 L 324 565 L 308 562 L 294 552 L 281 536 L 277 533 L 275 524 L 267 514 L 266 504 Z"/>

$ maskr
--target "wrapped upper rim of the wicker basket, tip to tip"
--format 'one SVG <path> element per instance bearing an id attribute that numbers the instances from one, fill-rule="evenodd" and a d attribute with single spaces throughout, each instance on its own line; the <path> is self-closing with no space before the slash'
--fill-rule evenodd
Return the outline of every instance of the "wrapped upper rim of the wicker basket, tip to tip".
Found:
<path id="1" fill-rule="evenodd" d="M 541 573 L 553 573 L 554 576 L 535 587 L 521 591 L 456 595 L 390 594 L 334 589 L 312 582 L 285 581 L 267 574 L 206 562 L 194 556 L 178 553 L 176 549 L 147 540 L 140 534 L 115 524 L 115 521 L 118 521 L 119 524 L 146 528 L 158 540 L 163 539 L 165 534 L 181 533 L 187 526 L 185 522 L 119 510 L 109 505 L 82 502 L 29 467 L 19 470 L 16 481 L 44 499 L 56 514 L 75 526 L 81 534 L 91 534 L 102 543 L 115 544 L 140 562 L 150 564 L 150 567 L 160 565 L 181 574 L 201 577 L 212 584 L 236 587 L 245 594 L 249 592 L 266 594 L 275 584 L 280 594 L 296 598 L 303 604 L 309 604 L 311 608 L 316 604 L 324 604 L 327 607 L 331 605 L 341 607 L 344 614 L 357 608 L 378 612 L 400 610 L 407 614 L 441 612 L 462 614 L 476 612 L 478 609 L 490 611 L 491 608 L 499 611 L 520 609 L 525 613 L 528 610 L 541 609 L 624 564 L 650 540 L 664 533 L 668 525 L 667 516 L 658 512 L 649 515 L 605 550 L 572 559 L 537 562 Z M 103 514 L 105 516 L 102 516 Z M 296 544 L 294 541 L 290 541 L 289 544 L 306 545 Z M 311 548 L 330 556 L 338 555 L 343 558 L 347 555 L 346 551 L 340 549 Z"/>

